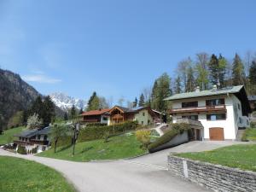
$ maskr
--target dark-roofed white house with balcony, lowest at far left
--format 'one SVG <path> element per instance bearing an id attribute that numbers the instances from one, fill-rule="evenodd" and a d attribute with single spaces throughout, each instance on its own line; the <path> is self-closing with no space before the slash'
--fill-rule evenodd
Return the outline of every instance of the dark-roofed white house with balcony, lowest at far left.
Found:
<path id="1" fill-rule="evenodd" d="M 16 150 L 19 146 L 25 147 L 26 152 L 32 151 L 34 148 L 36 148 L 37 153 L 47 150 L 49 148 L 49 129 L 49 127 L 45 127 L 40 130 L 23 131 L 15 135 Z"/>

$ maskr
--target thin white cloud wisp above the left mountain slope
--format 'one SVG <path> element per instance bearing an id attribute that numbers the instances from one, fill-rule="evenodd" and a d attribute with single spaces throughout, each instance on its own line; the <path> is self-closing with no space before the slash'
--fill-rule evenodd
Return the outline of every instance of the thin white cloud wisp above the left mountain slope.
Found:
<path id="1" fill-rule="evenodd" d="M 37 82 L 42 84 L 56 84 L 61 82 L 61 79 L 50 78 L 43 74 L 24 75 L 21 78 L 28 82 Z"/>

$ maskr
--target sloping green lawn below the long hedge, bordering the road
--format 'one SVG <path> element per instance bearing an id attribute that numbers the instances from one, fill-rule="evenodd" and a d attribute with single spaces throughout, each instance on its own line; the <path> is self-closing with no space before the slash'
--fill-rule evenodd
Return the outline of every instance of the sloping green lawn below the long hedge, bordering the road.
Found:
<path id="1" fill-rule="evenodd" d="M 74 157 L 72 146 L 59 147 L 56 153 L 54 153 L 54 148 L 50 148 L 38 156 L 74 161 L 115 160 L 147 153 L 140 146 L 141 144 L 137 142 L 135 134 L 132 132 L 110 137 L 108 143 L 104 143 L 102 139 L 77 143 Z"/>

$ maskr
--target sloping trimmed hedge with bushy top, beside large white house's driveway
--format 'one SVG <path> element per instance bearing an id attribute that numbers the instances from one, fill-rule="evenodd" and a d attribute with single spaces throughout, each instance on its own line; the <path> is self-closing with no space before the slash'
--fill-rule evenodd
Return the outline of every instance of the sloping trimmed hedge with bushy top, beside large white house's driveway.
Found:
<path id="1" fill-rule="evenodd" d="M 190 126 L 186 123 L 172 124 L 171 126 L 172 129 L 170 131 L 167 131 L 163 136 L 154 141 L 154 143 L 148 145 L 149 152 L 152 152 L 154 148 L 160 145 L 170 142 L 172 138 L 176 137 L 178 134 L 182 134 L 183 131 L 190 131 Z"/>

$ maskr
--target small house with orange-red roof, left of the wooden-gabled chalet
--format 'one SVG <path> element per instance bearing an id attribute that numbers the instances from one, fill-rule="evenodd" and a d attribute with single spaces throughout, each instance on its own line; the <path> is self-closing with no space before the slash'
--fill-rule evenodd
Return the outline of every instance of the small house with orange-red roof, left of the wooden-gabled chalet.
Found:
<path id="1" fill-rule="evenodd" d="M 84 123 L 102 123 L 109 124 L 109 108 L 92 110 L 82 113 L 81 121 Z"/>

